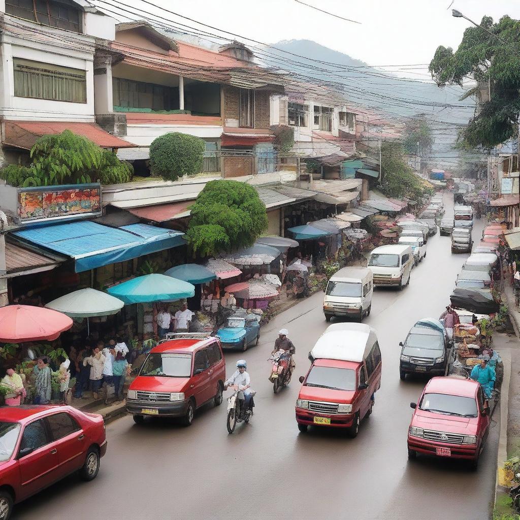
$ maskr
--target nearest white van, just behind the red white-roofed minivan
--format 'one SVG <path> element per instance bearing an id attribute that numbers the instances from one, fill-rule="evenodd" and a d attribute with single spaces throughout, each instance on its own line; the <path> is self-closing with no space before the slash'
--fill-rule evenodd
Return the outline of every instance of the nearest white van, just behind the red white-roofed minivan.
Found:
<path id="1" fill-rule="evenodd" d="M 359 321 L 370 314 L 372 308 L 373 274 L 366 267 L 344 267 L 327 283 L 323 298 L 323 314 L 347 316 Z"/>

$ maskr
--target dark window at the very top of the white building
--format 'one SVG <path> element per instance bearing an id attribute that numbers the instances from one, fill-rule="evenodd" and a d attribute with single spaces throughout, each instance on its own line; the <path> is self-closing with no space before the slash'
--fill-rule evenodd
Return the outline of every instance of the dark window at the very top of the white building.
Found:
<path id="1" fill-rule="evenodd" d="M 70 0 L 6 0 L 5 12 L 50 27 L 82 31 L 82 14 Z"/>

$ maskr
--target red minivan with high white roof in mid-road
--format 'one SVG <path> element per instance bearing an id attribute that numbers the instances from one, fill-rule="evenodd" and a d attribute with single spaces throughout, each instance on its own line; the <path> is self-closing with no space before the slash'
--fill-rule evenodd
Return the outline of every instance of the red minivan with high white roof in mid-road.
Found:
<path id="1" fill-rule="evenodd" d="M 309 359 L 313 364 L 300 378 L 296 401 L 298 429 L 347 428 L 355 437 L 381 387 L 381 350 L 374 329 L 363 323 L 334 323 L 319 337 Z"/>

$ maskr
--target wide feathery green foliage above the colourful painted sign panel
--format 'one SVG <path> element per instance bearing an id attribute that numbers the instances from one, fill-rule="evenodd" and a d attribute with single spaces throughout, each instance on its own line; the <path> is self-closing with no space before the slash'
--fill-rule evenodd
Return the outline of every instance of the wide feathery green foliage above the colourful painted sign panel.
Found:
<path id="1" fill-rule="evenodd" d="M 120 161 L 114 152 L 69 130 L 41 137 L 30 155 L 29 166 L 9 164 L 0 171 L 0 178 L 11 186 L 27 188 L 95 180 L 102 184 L 126 183 L 134 173 L 133 167 Z"/>

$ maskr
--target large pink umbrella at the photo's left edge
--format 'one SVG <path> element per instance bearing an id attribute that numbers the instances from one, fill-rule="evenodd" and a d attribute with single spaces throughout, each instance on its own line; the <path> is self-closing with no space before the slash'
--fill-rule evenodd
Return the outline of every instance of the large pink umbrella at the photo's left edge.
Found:
<path id="1" fill-rule="evenodd" d="M 53 341 L 71 327 L 72 320 L 56 310 L 32 305 L 0 307 L 0 341 L 4 343 Z"/>

